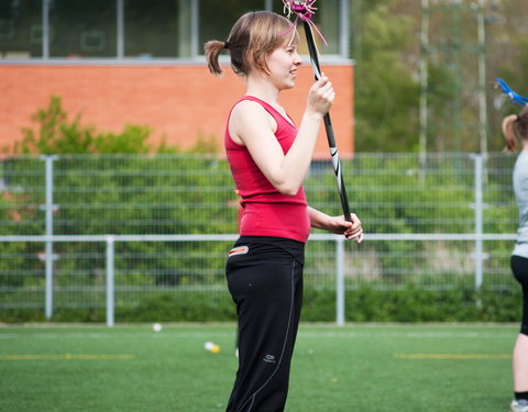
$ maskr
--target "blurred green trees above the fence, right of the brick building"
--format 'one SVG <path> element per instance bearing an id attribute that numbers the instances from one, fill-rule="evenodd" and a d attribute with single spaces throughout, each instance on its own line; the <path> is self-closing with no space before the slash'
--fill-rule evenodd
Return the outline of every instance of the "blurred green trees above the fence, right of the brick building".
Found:
<path id="1" fill-rule="evenodd" d="M 418 149 L 418 62 L 421 57 L 421 2 L 351 0 L 355 22 L 356 152 Z M 429 40 L 437 51 L 428 58 L 430 152 L 480 149 L 477 52 L 485 53 L 488 152 L 504 147 L 502 119 L 519 108 L 494 88 L 496 77 L 528 94 L 528 47 L 525 0 L 484 2 L 484 48 L 477 47 L 477 7 L 472 0 L 429 2 Z M 460 14 L 454 10 L 461 10 Z M 435 55 L 435 56 L 433 56 Z M 457 62 L 460 58 L 461 62 Z M 459 101 L 457 102 L 457 99 Z M 458 126 L 453 123 L 457 120 Z M 457 142 L 454 142 L 457 141 Z"/>

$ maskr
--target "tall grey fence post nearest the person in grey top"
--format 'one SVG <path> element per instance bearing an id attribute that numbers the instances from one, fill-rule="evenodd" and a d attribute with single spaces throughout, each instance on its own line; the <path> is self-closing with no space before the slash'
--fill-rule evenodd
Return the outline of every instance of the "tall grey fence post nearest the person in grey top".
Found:
<path id="1" fill-rule="evenodd" d="M 480 292 L 483 281 L 483 267 L 484 267 L 484 252 L 483 252 L 483 155 L 473 155 L 475 159 L 475 292 Z M 476 300 L 476 304 L 481 305 L 480 298 Z"/>

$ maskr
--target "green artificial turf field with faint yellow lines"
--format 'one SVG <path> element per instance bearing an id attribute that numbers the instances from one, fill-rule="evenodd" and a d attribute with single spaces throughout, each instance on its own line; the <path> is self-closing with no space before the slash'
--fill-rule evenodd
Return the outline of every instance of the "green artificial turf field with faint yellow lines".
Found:
<path id="1" fill-rule="evenodd" d="M 513 325 L 308 325 L 290 412 L 497 412 L 512 399 Z M 204 343 L 218 343 L 211 354 Z M 223 411 L 234 325 L 0 327 L 0 411 Z"/>

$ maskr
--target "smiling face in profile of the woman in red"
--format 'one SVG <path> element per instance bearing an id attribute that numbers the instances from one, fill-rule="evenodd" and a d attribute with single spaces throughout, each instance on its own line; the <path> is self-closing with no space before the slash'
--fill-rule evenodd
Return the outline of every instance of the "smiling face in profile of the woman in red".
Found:
<path id="1" fill-rule="evenodd" d="M 268 78 L 278 90 L 292 89 L 297 78 L 297 68 L 302 60 L 297 52 L 297 43 L 285 44 L 266 57 Z"/>

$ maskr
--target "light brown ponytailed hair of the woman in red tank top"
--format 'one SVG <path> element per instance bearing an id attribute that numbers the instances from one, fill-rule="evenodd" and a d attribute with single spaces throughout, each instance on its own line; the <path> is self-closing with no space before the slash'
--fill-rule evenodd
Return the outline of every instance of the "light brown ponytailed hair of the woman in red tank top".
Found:
<path id="1" fill-rule="evenodd" d="M 209 71 L 220 77 L 223 73 L 218 56 L 229 51 L 231 67 L 237 75 L 245 76 L 252 68 L 270 73 L 266 56 L 292 40 L 298 40 L 297 31 L 286 33 L 292 22 L 271 11 L 253 11 L 242 15 L 231 29 L 227 42 L 209 41 L 205 44 Z"/>

